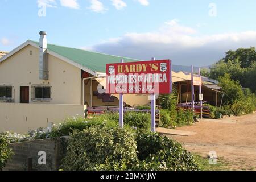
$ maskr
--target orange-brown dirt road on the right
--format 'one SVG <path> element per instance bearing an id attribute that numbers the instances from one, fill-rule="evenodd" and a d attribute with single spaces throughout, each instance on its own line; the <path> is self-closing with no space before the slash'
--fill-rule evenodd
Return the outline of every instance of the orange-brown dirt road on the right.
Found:
<path id="1" fill-rule="evenodd" d="M 193 131 L 189 137 L 169 135 L 184 144 L 191 152 L 217 156 L 229 162 L 229 169 L 255 170 L 256 168 L 256 114 L 230 117 L 221 120 L 204 119 L 179 130 Z"/>

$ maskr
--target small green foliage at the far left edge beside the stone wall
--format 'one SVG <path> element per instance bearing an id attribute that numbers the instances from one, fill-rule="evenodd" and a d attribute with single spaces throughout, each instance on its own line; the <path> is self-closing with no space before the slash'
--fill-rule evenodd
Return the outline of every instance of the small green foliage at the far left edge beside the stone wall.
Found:
<path id="1" fill-rule="evenodd" d="M 0 134 L 0 171 L 5 167 L 7 160 L 11 159 L 13 152 L 9 148 L 9 140 L 5 134 Z"/>

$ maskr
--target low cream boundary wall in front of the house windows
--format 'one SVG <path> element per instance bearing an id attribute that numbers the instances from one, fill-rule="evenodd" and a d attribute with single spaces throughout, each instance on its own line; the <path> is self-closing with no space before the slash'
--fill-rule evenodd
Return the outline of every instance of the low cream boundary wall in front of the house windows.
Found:
<path id="1" fill-rule="evenodd" d="M 84 105 L 0 103 L 0 132 L 27 133 L 67 117 L 84 116 Z"/>

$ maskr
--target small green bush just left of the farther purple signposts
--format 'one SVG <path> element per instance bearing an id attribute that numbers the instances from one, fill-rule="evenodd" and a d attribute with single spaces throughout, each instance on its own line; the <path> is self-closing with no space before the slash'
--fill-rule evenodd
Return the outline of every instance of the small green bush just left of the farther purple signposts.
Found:
<path id="1" fill-rule="evenodd" d="M 185 126 L 185 125 L 191 125 L 194 122 L 194 113 L 191 110 L 183 110 L 179 109 L 177 111 L 177 117 L 175 119 L 175 123 L 177 126 Z"/>

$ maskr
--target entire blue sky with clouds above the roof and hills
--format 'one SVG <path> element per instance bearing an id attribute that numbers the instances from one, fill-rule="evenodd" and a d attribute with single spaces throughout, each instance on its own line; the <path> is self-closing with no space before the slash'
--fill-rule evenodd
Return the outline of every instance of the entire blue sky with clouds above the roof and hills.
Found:
<path id="1" fill-rule="evenodd" d="M 0 0 L 0 50 L 26 40 L 207 66 L 256 46 L 255 0 Z"/>

